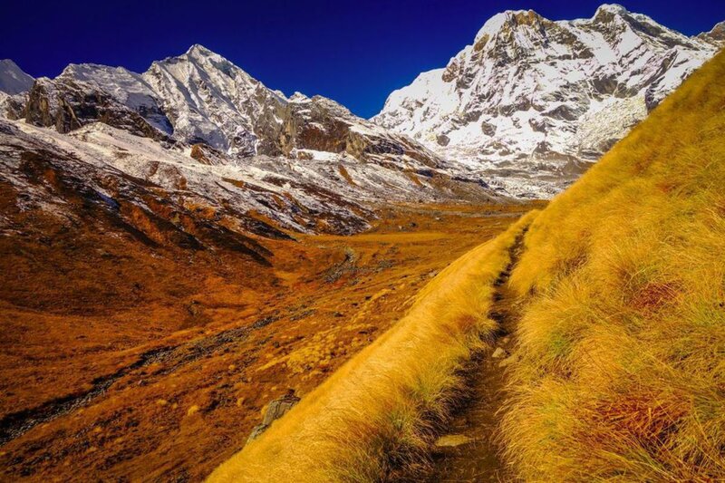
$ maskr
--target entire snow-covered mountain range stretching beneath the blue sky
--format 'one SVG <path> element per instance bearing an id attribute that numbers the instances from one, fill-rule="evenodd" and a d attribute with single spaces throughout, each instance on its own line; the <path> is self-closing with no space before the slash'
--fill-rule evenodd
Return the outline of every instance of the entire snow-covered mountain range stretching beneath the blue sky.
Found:
<path id="1" fill-rule="evenodd" d="M 688 37 L 618 5 L 561 22 L 508 11 L 371 121 L 286 97 L 200 45 L 141 74 L 71 64 L 33 79 L 2 61 L 0 112 L 26 140 L 15 150 L 63 150 L 284 229 L 349 232 L 375 202 L 550 197 L 709 59 L 723 25 Z"/>

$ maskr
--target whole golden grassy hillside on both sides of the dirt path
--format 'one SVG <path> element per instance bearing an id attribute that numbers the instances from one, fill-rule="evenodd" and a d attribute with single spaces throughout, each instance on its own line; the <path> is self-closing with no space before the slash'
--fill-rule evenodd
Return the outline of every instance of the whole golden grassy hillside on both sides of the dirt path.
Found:
<path id="1" fill-rule="evenodd" d="M 723 79 L 720 53 L 209 480 L 425 479 L 436 438 L 475 403 L 461 395 L 499 344 L 496 286 L 516 258 L 499 440 L 517 475 L 724 478 Z"/>

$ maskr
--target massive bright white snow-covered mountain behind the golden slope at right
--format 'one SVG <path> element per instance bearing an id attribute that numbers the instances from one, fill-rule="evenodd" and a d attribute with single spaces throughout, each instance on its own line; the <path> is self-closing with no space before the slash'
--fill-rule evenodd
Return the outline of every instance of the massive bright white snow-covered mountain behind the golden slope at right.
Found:
<path id="1" fill-rule="evenodd" d="M 375 116 L 517 196 L 564 188 L 717 52 L 620 5 L 590 19 L 507 11 L 442 69 L 392 92 Z"/>

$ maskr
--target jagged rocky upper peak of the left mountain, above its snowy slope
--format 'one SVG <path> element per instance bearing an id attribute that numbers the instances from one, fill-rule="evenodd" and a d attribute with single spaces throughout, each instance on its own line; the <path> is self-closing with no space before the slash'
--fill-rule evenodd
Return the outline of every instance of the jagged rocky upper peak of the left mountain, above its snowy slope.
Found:
<path id="1" fill-rule="evenodd" d="M 143 74 L 71 64 L 57 78 L 35 83 L 25 116 L 63 132 L 102 118 L 151 138 L 203 143 L 232 158 L 294 158 L 298 150 L 313 150 L 361 160 L 387 154 L 407 168 L 413 159 L 428 167 L 440 164 L 419 143 L 332 100 L 300 93 L 287 99 L 201 45 L 155 62 Z"/>

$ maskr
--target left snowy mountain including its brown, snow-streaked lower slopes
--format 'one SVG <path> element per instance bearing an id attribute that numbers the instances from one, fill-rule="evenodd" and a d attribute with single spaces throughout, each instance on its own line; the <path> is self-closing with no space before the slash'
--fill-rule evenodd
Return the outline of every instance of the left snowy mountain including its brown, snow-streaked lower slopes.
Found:
<path id="1" fill-rule="evenodd" d="M 143 74 L 71 64 L 5 95 L 0 181 L 27 208 L 72 220 L 80 197 L 161 244 L 259 255 L 249 237 L 353 233 L 383 201 L 498 197 L 417 141 L 288 99 L 199 45 Z"/>

